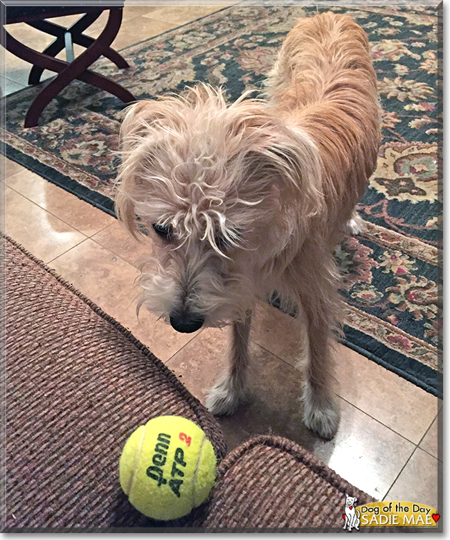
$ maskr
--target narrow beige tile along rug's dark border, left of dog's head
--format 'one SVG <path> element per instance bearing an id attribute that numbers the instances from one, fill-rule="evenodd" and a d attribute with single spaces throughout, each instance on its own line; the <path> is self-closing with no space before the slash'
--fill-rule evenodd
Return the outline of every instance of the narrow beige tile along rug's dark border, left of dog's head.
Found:
<path id="1" fill-rule="evenodd" d="M 116 220 L 25 168 L 9 176 L 6 184 L 86 236 L 99 232 Z"/>

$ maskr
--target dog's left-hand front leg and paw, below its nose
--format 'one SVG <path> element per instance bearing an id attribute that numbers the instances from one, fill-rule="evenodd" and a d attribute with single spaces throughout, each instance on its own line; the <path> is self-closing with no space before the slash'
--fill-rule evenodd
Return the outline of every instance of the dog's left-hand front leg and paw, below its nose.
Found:
<path id="1" fill-rule="evenodd" d="M 230 415 L 240 403 L 245 401 L 250 324 L 250 313 L 245 322 L 233 323 L 230 369 L 219 378 L 206 398 L 206 407 L 213 415 Z"/>

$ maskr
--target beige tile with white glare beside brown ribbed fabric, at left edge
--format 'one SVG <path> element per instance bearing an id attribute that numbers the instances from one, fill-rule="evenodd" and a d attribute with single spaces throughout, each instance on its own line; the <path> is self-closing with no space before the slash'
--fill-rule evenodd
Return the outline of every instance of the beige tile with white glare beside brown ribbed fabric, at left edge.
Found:
<path id="1" fill-rule="evenodd" d="M 51 261 L 86 238 L 8 186 L 5 193 L 6 234 L 38 259 Z"/>

